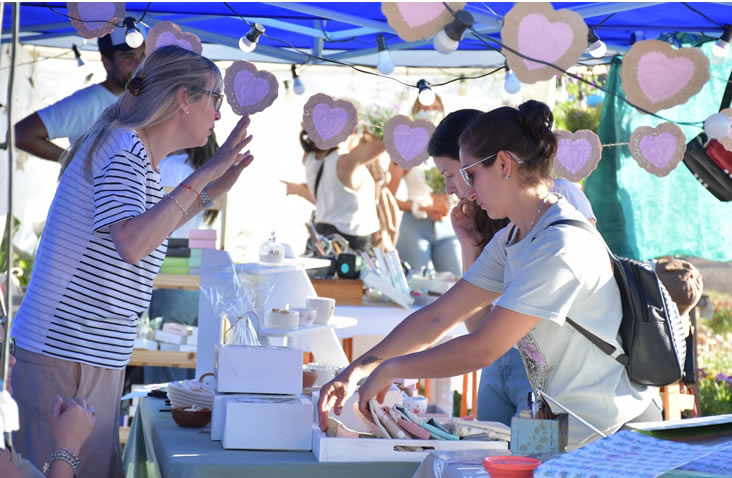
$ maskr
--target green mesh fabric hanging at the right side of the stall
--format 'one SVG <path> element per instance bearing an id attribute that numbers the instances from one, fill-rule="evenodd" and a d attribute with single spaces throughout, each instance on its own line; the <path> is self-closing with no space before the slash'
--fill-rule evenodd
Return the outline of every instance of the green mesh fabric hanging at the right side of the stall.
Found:
<path id="1" fill-rule="evenodd" d="M 707 56 L 711 45 L 702 47 Z M 673 121 L 704 121 L 719 111 L 731 68 L 732 59 L 712 64 L 710 80 L 699 94 L 657 114 Z M 610 70 L 608 90 L 625 96 L 620 64 Z M 663 122 L 608 94 L 598 134 L 603 144 L 627 143 L 635 128 Z M 687 141 L 702 131 L 700 126 L 681 129 Z M 627 146 L 604 147 L 597 169 L 585 181 L 585 194 L 598 229 L 618 255 L 639 260 L 672 254 L 732 260 L 732 202 L 717 200 L 683 162 L 659 178 L 642 169 Z"/>

